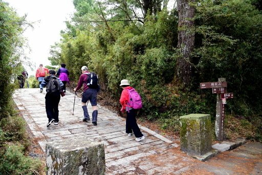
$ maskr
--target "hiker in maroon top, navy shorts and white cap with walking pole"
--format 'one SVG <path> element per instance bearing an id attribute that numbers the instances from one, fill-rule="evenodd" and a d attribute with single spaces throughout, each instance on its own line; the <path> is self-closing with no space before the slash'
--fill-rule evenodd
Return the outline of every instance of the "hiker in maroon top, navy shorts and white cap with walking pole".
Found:
<path id="1" fill-rule="evenodd" d="M 94 126 L 97 125 L 97 92 L 99 91 L 98 77 L 95 73 L 91 73 L 88 71 L 88 67 L 83 66 L 81 68 L 82 75 L 80 75 L 77 87 L 74 91 L 78 91 L 82 85 L 83 86 L 83 95 L 82 95 L 82 108 L 84 113 L 83 121 L 87 122 L 90 120 L 90 116 L 88 114 L 88 108 L 86 107 L 86 102 L 90 101 L 93 113 L 92 113 L 92 123 Z"/>

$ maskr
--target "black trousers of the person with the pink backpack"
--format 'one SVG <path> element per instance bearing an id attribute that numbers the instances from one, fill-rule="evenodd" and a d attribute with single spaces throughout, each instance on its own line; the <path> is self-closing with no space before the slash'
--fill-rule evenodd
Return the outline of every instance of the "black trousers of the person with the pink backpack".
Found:
<path id="1" fill-rule="evenodd" d="M 128 133 L 134 133 L 136 137 L 142 137 L 143 134 L 140 131 L 140 128 L 137 125 L 137 111 L 136 110 L 129 110 L 129 112 L 126 112 L 126 122 L 125 122 L 125 132 Z M 133 130 L 133 132 L 132 132 Z"/>

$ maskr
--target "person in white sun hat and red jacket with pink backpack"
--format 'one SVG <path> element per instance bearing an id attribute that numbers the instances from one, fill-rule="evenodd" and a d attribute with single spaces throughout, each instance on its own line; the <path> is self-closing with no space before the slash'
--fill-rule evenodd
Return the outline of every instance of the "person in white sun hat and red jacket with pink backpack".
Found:
<path id="1" fill-rule="evenodd" d="M 123 89 L 120 97 L 121 112 L 126 112 L 125 132 L 127 136 L 132 136 L 134 133 L 136 141 L 140 142 L 145 137 L 137 125 L 136 116 L 137 110 L 142 108 L 142 99 L 138 92 L 130 86 L 128 80 L 121 80 L 120 86 Z"/>

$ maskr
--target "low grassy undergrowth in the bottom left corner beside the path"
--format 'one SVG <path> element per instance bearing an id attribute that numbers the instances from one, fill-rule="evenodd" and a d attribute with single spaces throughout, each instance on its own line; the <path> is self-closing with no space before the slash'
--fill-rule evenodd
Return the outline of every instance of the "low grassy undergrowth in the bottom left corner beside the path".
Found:
<path id="1" fill-rule="evenodd" d="M 0 174 L 40 174 L 42 162 L 26 156 L 31 142 L 26 122 L 11 113 L 0 121 Z"/>

